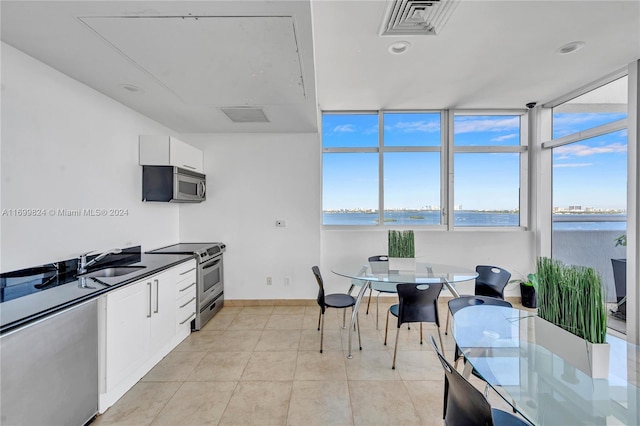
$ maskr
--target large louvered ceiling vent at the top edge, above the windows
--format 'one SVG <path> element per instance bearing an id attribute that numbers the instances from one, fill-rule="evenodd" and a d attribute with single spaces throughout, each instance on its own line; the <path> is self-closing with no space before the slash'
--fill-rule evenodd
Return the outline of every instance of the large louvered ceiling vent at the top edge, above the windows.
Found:
<path id="1" fill-rule="evenodd" d="M 460 0 L 393 0 L 380 35 L 437 35 Z"/>

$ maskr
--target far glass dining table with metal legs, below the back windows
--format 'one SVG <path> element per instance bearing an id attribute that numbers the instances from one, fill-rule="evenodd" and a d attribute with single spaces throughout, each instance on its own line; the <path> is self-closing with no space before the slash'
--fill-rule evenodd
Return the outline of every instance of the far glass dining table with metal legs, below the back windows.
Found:
<path id="1" fill-rule="evenodd" d="M 342 277 L 356 280 L 361 285 L 356 304 L 351 315 L 349 327 L 349 353 L 347 358 L 353 358 L 351 354 L 351 338 L 358 314 L 358 308 L 368 288 L 375 283 L 375 290 L 386 293 L 395 293 L 399 283 L 410 284 L 435 284 L 442 283 L 451 292 L 453 297 L 459 297 L 455 284 L 462 281 L 474 280 L 478 274 L 475 270 L 427 262 L 416 258 L 411 267 L 402 269 L 389 269 L 388 262 L 351 262 L 336 265 L 331 272 Z"/>

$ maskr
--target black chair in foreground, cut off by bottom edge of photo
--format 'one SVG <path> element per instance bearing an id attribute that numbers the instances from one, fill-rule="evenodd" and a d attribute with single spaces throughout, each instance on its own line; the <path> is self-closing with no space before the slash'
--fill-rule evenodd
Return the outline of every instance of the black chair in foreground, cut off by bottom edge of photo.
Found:
<path id="1" fill-rule="evenodd" d="M 442 355 L 433 336 L 431 346 L 444 369 L 442 418 L 447 426 L 528 426 L 529 423 L 506 411 L 492 408 L 489 401 Z"/>

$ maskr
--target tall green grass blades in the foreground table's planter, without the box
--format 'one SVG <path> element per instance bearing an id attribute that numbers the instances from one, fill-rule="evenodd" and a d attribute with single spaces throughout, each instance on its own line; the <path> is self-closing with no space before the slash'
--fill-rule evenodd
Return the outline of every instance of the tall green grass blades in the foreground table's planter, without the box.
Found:
<path id="1" fill-rule="evenodd" d="M 607 305 L 596 270 L 546 257 L 537 266 L 538 316 L 591 343 L 605 343 Z"/>

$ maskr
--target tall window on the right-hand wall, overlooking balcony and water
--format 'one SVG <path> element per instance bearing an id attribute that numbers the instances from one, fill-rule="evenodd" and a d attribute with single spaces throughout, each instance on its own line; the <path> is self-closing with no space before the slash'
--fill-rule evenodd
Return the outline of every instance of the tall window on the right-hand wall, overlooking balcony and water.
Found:
<path id="1" fill-rule="evenodd" d="M 626 233 L 627 78 L 552 104 L 552 256 L 594 267 L 609 302 L 626 286 L 612 259 L 625 258 L 616 244 Z M 612 311 L 617 308 L 612 307 Z"/>

